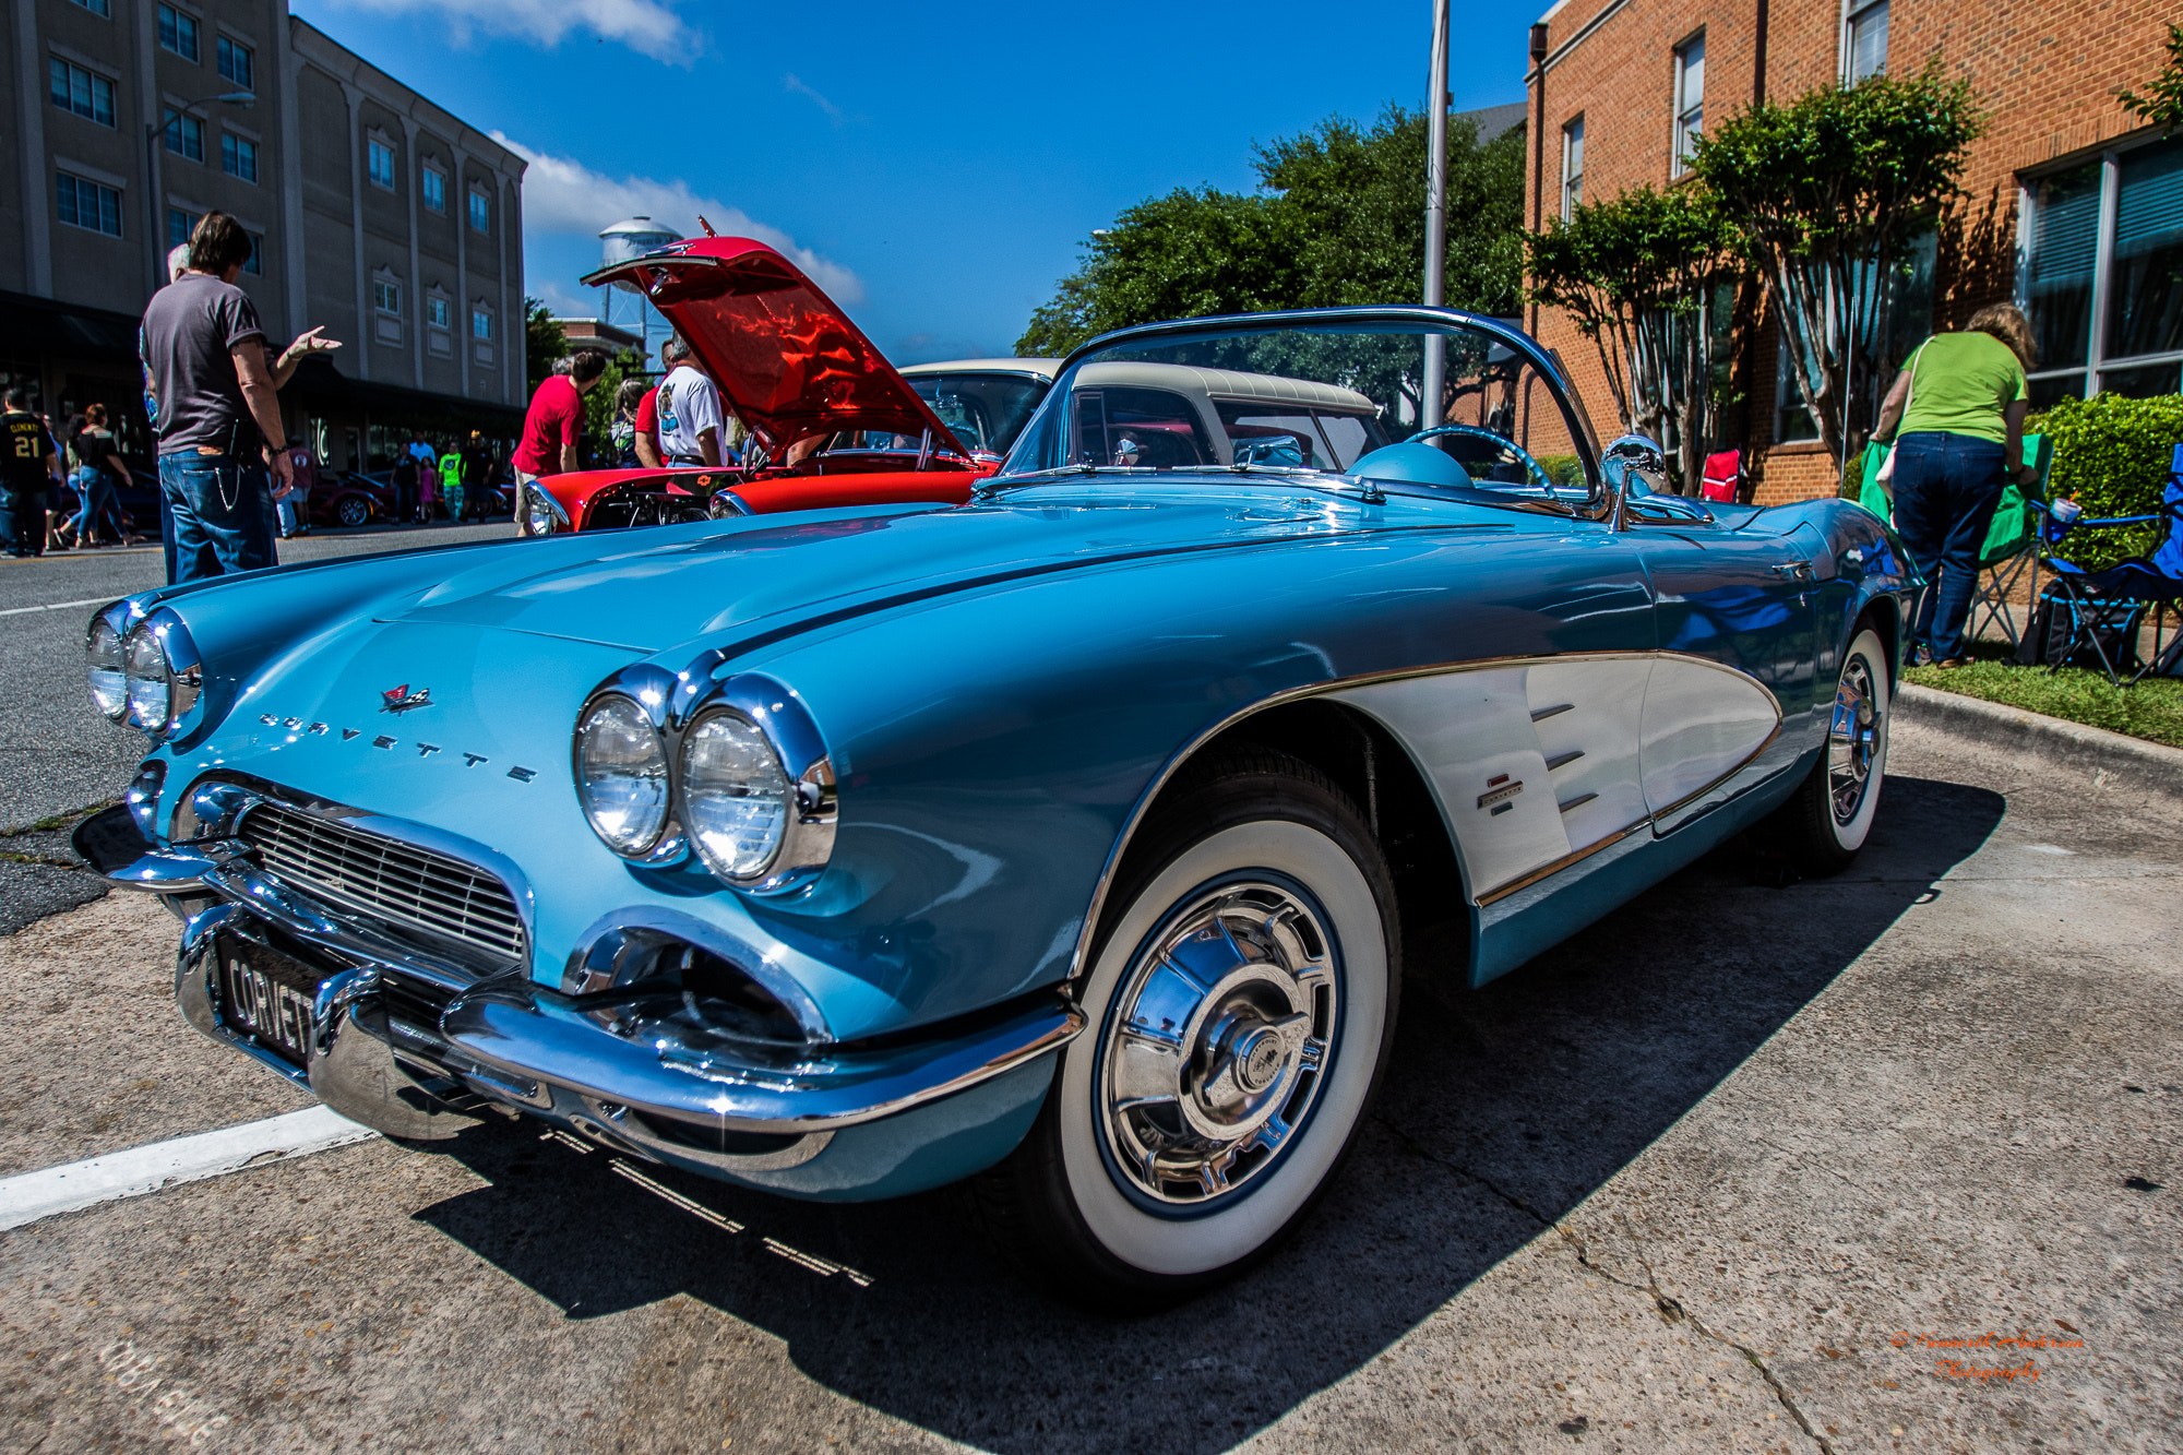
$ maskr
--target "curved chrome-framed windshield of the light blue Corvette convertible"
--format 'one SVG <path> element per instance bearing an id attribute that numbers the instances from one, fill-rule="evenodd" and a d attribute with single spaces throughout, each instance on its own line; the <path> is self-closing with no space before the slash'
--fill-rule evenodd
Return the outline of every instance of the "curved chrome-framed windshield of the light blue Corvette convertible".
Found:
<path id="1" fill-rule="evenodd" d="M 1000 481 L 1225 468 L 1554 498 L 1589 492 L 1583 426 L 1563 389 L 1502 334 L 1452 319 L 1292 319 L 1140 334 L 1081 356 Z"/>

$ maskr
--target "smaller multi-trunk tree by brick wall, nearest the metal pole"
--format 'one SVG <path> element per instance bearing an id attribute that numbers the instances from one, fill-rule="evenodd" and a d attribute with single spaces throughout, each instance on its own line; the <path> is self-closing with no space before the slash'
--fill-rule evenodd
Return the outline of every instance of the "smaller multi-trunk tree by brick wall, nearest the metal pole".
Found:
<path id="1" fill-rule="evenodd" d="M 1637 188 L 1528 238 L 1530 299 L 1600 352 L 1622 428 L 1668 439 L 1687 489 L 1720 437 L 1740 236 L 1705 188 Z"/>

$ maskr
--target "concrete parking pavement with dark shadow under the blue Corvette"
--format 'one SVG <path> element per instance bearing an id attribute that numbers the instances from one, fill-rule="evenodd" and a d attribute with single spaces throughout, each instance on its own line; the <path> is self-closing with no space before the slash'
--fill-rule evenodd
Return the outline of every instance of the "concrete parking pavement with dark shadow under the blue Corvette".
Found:
<path id="1" fill-rule="evenodd" d="M 1410 994 L 1334 1195 L 1168 1315 L 1028 1293 L 950 1193 L 485 1125 L 0 1234 L 0 1448 L 2174 1451 L 2183 808 L 1890 767 L 1836 880 L 1731 845 Z M 308 1103 L 179 1022 L 172 937 L 0 939 L 0 1175 Z"/>

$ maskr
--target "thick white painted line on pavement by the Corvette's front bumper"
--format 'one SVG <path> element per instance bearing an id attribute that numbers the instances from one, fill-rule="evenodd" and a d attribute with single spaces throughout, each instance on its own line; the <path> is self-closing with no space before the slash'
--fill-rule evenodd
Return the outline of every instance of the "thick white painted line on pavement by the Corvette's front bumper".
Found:
<path id="1" fill-rule="evenodd" d="M 179 1182 L 218 1178 L 244 1167 L 301 1158 L 373 1136 L 378 1132 L 371 1127 L 358 1125 L 332 1108 L 314 1105 L 240 1127 L 177 1136 L 170 1143 L 48 1167 L 0 1180 L 0 1228 L 22 1228 L 55 1212 L 94 1208 L 120 1197 L 142 1197 Z"/>

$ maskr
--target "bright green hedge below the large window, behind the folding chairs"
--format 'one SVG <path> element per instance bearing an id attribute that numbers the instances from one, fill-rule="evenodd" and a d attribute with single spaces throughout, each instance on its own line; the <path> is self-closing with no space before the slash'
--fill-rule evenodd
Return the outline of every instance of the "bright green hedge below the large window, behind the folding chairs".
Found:
<path id="1" fill-rule="evenodd" d="M 2024 430 L 2054 437 L 2048 494 L 2069 496 L 2087 516 L 2150 516 L 2161 505 L 2168 459 L 2183 443 L 2183 393 L 2061 400 L 2026 419 Z M 2157 524 L 2080 529 L 2063 537 L 2056 555 L 2098 570 L 2150 553 L 2159 537 Z"/>

